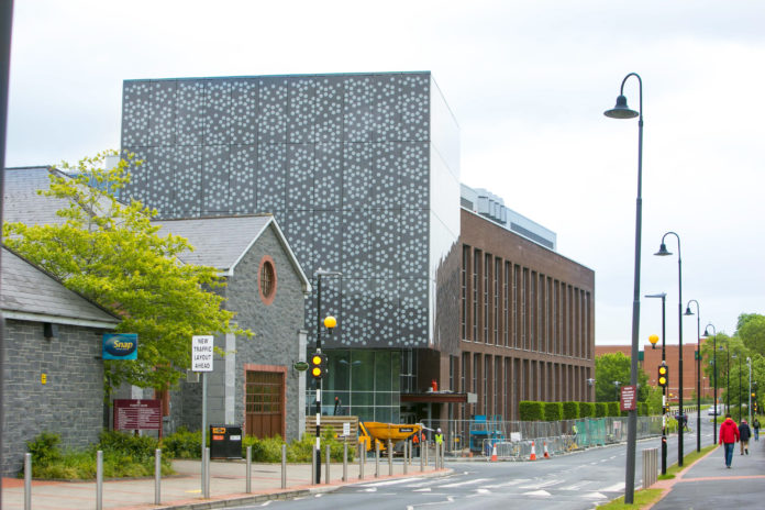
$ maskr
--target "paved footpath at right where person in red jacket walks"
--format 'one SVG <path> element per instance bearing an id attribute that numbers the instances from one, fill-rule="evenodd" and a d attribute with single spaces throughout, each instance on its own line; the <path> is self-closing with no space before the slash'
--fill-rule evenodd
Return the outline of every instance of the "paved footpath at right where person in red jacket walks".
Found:
<path id="1" fill-rule="evenodd" d="M 651 488 L 668 489 L 653 510 L 765 508 L 765 439 L 752 439 L 749 455 L 740 455 L 736 444 L 730 469 L 718 446 L 677 478 Z"/>

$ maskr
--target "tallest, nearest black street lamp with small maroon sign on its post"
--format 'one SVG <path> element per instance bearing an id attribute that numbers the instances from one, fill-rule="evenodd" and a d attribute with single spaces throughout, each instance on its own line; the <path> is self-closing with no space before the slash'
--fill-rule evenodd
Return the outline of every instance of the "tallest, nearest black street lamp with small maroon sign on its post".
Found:
<path id="1" fill-rule="evenodd" d="M 640 85 L 640 110 L 628 108 L 624 84 L 634 76 Z M 632 295 L 632 355 L 630 362 L 630 385 L 637 387 L 637 337 L 640 333 L 640 244 L 643 218 L 643 80 L 636 73 L 630 73 L 622 80 L 617 106 L 603 114 L 611 119 L 634 119 L 637 117 L 637 198 L 635 200 L 635 268 Z M 624 481 L 624 502 L 632 505 L 635 497 L 635 447 L 637 444 L 637 410 L 628 412 L 627 418 L 627 473 Z"/>

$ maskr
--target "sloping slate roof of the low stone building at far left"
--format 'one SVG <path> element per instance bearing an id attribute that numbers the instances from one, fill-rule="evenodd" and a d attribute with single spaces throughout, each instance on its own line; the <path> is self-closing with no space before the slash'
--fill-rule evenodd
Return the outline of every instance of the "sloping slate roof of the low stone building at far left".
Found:
<path id="1" fill-rule="evenodd" d="M 114 329 L 120 319 L 74 292 L 25 258 L 2 248 L 2 293 L 5 319 Z"/>

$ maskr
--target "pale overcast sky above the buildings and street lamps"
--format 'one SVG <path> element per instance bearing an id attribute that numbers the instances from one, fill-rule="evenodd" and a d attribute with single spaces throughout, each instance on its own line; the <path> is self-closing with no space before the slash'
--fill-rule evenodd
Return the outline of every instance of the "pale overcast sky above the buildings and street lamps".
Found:
<path id="1" fill-rule="evenodd" d="M 596 342 L 631 335 L 643 78 L 641 295 L 732 334 L 765 312 L 765 2 L 16 0 L 8 166 L 120 144 L 124 79 L 430 70 L 462 133 L 462 181 L 557 234 L 596 273 Z M 639 107 L 637 81 L 625 86 Z M 696 341 L 696 319 L 684 322 Z M 643 299 L 641 344 L 661 334 Z"/>

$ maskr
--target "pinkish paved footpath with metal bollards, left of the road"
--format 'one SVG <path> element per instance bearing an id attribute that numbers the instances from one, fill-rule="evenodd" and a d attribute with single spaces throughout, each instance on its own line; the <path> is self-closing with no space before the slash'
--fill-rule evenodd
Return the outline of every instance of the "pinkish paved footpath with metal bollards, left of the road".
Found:
<path id="1" fill-rule="evenodd" d="M 171 477 L 162 479 L 160 505 L 154 505 L 154 478 L 107 480 L 103 483 L 102 507 L 104 509 L 190 509 L 201 510 L 250 505 L 270 499 L 287 499 L 312 492 L 334 490 L 337 487 L 374 479 L 399 477 L 443 476 L 452 469 L 436 470 L 431 457 L 431 465 L 420 470 L 419 459 L 408 466 L 396 459 L 392 475 L 387 459 L 380 459 L 379 478 L 375 478 L 375 461 L 367 459 L 364 466 L 365 477 L 359 480 L 359 466 L 356 461 L 348 464 L 347 483 L 342 481 L 343 465 L 330 466 L 330 484 L 325 484 L 325 465 L 322 465 L 322 485 L 311 485 L 311 466 L 289 464 L 287 466 L 287 489 L 281 489 L 280 464 L 253 464 L 251 494 L 246 492 L 246 464 L 242 461 L 223 461 L 211 463 L 210 498 L 201 494 L 199 461 L 174 461 L 177 472 Z M 32 508 L 34 510 L 85 510 L 96 508 L 96 483 L 92 481 L 42 481 L 32 483 Z M 24 480 L 2 479 L 2 510 L 24 509 Z"/>

